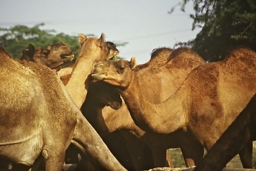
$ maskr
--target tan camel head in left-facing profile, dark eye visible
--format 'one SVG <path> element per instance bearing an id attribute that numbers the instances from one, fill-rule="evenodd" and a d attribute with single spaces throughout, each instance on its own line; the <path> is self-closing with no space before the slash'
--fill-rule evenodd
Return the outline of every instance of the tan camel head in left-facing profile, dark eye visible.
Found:
<path id="1" fill-rule="evenodd" d="M 136 63 L 136 57 L 132 57 L 131 61 L 100 61 L 94 65 L 92 77 L 110 85 L 126 88 L 132 82 Z"/>

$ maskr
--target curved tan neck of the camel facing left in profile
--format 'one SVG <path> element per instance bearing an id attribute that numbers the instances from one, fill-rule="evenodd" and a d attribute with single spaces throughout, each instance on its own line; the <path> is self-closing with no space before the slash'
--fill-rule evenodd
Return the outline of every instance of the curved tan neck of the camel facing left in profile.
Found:
<path id="1" fill-rule="evenodd" d="M 162 103 L 152 104 L 141 93 L 138 79 L 133 75 L 131 84 L 125 91 L 121 91 L 121 94 L 134 123 L 141 129 L 171 133 L 180 128 L 186 129 L 188 99 L 187 94 L 183 92 L 178 90 Z"/>

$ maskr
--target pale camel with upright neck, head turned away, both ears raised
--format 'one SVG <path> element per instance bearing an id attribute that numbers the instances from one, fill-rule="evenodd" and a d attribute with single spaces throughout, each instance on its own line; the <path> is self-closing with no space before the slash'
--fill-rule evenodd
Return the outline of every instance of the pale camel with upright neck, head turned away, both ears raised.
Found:
<path id="1" fill-rule="evenodd" d="M 108 46 L 103 33 L 100 38 L 87 38 L 85 34 L 80 34 L 79 43 L 81 48 L 65 86 L 77 107 L 81 108 L 88 89 L 87 77 L 92 71 L 93 64 L 108 59 Z"/>

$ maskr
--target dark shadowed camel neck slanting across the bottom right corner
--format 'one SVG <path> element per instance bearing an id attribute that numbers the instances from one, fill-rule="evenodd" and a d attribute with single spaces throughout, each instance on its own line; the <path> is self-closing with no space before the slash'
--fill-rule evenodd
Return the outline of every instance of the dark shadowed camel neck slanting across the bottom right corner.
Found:
<path id="1" fill-rule="evenodd" d="M 256 137 L 256 96 L 212 146 L 195 171 L 218 171 Z M 252 151 L 250 151 L 252 152 Z"/>

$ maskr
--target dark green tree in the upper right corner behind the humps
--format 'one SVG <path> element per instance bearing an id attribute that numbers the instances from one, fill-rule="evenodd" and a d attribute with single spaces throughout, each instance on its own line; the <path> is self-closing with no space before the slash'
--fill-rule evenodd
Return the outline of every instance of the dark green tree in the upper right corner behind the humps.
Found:
<path id="1" fill-rule="evenodd" d="M 256 50 L 255 0 L 190 1 L 195 11 L 190 15 L 192 29 L 199 27 L 201 31 L 194 40 L 177 45 L 192 47 L 207 61 L 221 60 L 228 50 L 237 46 Z M 188 3 L 189 0 L 183 0 L 180 9 L 185 11 Z"/>

